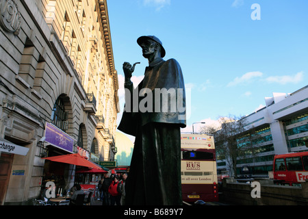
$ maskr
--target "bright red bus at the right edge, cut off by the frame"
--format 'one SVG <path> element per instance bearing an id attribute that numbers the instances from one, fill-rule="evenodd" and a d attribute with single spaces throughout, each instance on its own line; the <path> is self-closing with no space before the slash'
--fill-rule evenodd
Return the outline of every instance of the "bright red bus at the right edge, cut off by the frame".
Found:
<path id="1" fill-rule="evenodd" d="M 308 151 L 274 156 L 274 183 L 299 185 L 308 180 Z"/>

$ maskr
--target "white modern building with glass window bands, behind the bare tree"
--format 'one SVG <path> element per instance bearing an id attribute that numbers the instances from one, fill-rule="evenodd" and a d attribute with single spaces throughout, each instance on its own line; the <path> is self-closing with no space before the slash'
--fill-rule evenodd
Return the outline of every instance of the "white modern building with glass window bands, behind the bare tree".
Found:
<path id="1" fill-rule="evenodd" d="M 266 107 L 246 116 L 248 129 L 262 137 L 257 155 L 238 159 L 238 175 L 247 167 L 253 176 L 266 176 L 272 171 L 274 155 L 308 151 L 308 86 L 292 94 L 273 93 L 266 97 Z M 228 162 L 217 161 L 218 171 L 230 170 Z"/>

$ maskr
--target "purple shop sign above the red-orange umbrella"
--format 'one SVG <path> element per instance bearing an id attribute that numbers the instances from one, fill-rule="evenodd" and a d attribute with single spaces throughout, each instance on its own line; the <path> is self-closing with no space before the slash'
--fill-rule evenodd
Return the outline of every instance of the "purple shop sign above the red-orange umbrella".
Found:
<path id="1" fill-rule="evenodd" d="M 46 123 L 45 141 L 60 149 L 73 152 L 74 139 L 51 123 Z"/>

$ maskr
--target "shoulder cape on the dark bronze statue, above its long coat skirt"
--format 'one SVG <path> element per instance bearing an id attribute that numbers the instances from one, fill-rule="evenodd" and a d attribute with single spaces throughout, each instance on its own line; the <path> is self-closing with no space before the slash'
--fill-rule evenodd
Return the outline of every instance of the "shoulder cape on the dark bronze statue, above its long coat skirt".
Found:
<path id="1" fill-rule="evenodd" d="M 136 136 L 137 125 L 173 123 L 186 126 L 185 86 L 181 66 L 176 60 L 160 60 L 156 65 L 146 67 L 138 87 L 125 88 L 120 131 Z"/>

